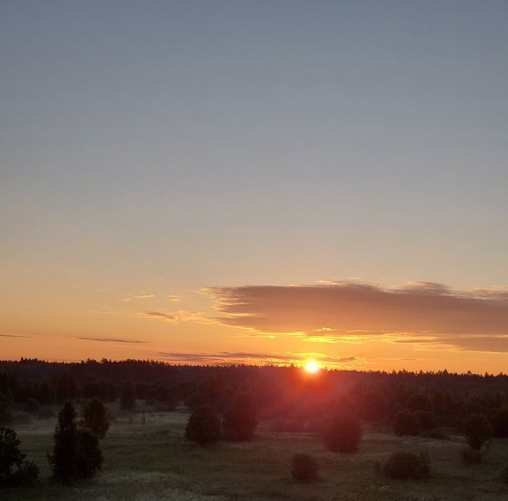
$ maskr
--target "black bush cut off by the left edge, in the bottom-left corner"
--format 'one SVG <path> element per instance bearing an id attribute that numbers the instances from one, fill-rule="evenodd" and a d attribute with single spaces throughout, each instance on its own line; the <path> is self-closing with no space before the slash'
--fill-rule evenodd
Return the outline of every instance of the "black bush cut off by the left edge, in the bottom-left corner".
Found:
<path id="1" fill-rule="evenodd" d="M 37 483 L 39 467 L 33 461 L 25 461 L 20 443 L 16 431 L 0 428 L 0 487 Z"/>

